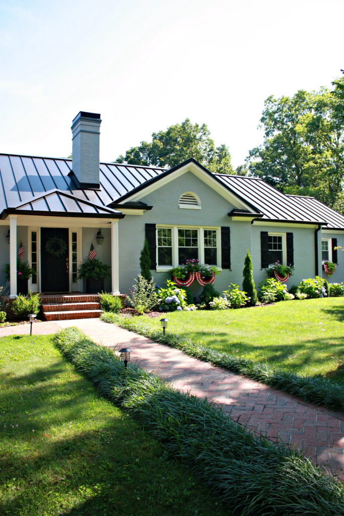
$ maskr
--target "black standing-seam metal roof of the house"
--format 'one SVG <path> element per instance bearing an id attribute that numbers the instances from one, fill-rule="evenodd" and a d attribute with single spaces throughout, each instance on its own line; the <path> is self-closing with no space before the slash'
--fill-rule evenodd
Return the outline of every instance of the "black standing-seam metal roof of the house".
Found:
<path id="1" fill-rule="evenodd" d="M 328 228 L 344 229 L 344 216 L 314 198 L 285 195 L 257 178 L 211 174 L 193 158 L 170 170 L 100 163 L 100 188 L 89 189 L 79 187 L 71 159 L 0 154 L 0 213 L 17 210 L 23 214 L 34 211 L 35 214 L 117 217 L 120 212 L 111 208 L 121 209 L 121 204 L 124 208 L 124 201 L 130 195 L 190 162 L 250 206 L 250 215 L 256 215 L 259 220 L 327 223 Z M 126 206 L 144 207 L 138 203 Z M 233 215 L 240 215 L 240 211 Z"/>

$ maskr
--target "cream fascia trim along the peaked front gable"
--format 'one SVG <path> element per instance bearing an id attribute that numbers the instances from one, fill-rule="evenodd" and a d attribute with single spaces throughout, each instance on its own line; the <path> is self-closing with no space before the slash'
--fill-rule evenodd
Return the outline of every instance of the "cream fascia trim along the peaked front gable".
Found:
<path id="1" fill-rule="evenodd" d="M 219 193 L 220 196 L 222 196 L 226 201 L 230 202 L 239 209 L 247 209 L 248 211 L 252 211 L 252 207 L 248 206 L 244 203 L 244 201 L 241 201 L 234 195 L 234 193 L 230 192 L 225 186 L 223 186 L 220 182 L 218 182 L 216 179 L 212 178 L 209 174 L 204 172 L 200 167 L 198 167 L 195 163 L 188 163 L 187 165 L 184 165 L 181 168 L 178 168 L 178 170 L 175 170 L 174 172 L 171 172 L 170 174 L 166 175 L 165 178 L 159 179 L 155 181 L 153 184 L 146 186 L 146 188 L 143 188 L 139 192 L 135 193 L 134 195 L 128 197 L 125 199 L 125 202 L 130 201 L 139 201 L 142 199 L 142 197 L 145 197 L 146 195 L 149 195 L 153 191 L 157 190 L 161 186 L 165 186 L 171 181 L 179 178 L 181 175 L 185 174 L 186 172 L 192 172 L 197 178 L 199 178 L 201 181 L 203 181 L 206 185 L 210 186 L 213 190 L 215 190 L 217 193 Z M 122 206 L 121 206 L 122 210 Z"/>

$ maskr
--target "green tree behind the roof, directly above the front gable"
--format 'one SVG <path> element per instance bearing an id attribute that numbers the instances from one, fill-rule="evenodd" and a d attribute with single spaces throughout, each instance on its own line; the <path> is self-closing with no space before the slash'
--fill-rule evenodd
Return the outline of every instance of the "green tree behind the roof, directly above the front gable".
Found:
<path id="1" fill-rule="evenodd" d="M 141 141 L 117 158 L 116 163 L 172 168 L 188 158 L 196 159 L 210 172 L 233 173 L 231 155 L 222 144 L 215 147 L 206 124 L 192 124 L 187 118 L 166 131 L 152 134 L 152 142 Z"/>

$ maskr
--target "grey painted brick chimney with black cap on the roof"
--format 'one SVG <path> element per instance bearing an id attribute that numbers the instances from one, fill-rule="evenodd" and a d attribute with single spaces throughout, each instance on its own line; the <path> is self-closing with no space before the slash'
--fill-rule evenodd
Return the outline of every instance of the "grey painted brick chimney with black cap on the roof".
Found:
<path id="1" fill-rule="evenodd" d="M 72 170 L 82 188 L 99 188 L 101 116 L 80 111 L 72 122 Z"/>

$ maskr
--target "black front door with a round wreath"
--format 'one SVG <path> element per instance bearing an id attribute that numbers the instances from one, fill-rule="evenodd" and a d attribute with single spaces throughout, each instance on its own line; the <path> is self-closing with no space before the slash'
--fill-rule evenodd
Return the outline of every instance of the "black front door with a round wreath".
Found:
<path id="1" fill-rule="evenodd" d="M 41 228 L 41 291 L 69 292 L 68 228 Z"/>

